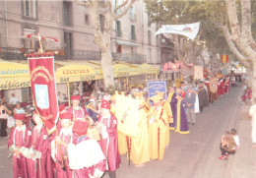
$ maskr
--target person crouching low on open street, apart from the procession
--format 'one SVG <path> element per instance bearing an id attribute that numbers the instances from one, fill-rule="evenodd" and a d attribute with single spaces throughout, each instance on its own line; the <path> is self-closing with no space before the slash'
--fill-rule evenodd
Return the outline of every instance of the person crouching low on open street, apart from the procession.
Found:
<path id="1" fill-rule="evenodd" d="M 225 160 L 228 158 L 229 154 L 234 154 L 236 149 L 236 144 L 234 142 L 233 136 L 229 131 L 226 131 L 224 136 L 222 137 L 222 143 L 220 147 L 222 151 L 222 156 L 219 157 L 221 160 Z"/>

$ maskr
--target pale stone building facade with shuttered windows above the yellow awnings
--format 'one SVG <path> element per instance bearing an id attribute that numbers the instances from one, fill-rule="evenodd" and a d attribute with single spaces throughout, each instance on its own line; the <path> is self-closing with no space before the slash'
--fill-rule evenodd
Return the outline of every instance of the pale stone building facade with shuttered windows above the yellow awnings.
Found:
<path id="1" fill-rule="evenodd" d="M 113 0 L 118 6 L 122 1 Z M 103 26 L 103 15 L 99 15 Z M 103 27 L 102 27 L 103 28 Z M 159 27 L 149 25 L 143 0 L 113 24 L 113 60 L 129 63 L 163 64 L 172 59 L 173 43 L 155 35 Z M 73 1 L 0 1 L 0 58 L 23 60 L 38 49 L 28 34 L 39 33 L 59 40 L 43 41 L 46 51 L 58 50 L 56 60 L 100 60 L 90 10 Z"/>

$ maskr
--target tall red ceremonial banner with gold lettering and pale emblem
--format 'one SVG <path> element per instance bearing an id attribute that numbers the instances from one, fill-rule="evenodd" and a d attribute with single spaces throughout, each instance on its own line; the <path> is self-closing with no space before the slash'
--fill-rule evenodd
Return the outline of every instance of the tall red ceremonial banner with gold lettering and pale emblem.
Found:
<path id="1" fill-rule="evenodd" d="M 35 109 L 48 134 L 56 129 L 58 101 L 54 73 L 54 57 L 28 58 L 32 82 L 32 99 Z"/>

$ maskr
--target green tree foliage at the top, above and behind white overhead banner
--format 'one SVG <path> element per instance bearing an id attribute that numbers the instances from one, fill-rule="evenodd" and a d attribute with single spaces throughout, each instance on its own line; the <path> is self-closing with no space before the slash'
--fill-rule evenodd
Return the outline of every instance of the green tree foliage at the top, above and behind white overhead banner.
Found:
<path id="1" fill-rule="evenodd" d="M 201 22 L 199 38 L 210 52 L 228 54 L 228 45 L 221 29 L 226 20 L 224 1 L 157 1 L 146 0 L 152 23 L 160 25 Z"/>

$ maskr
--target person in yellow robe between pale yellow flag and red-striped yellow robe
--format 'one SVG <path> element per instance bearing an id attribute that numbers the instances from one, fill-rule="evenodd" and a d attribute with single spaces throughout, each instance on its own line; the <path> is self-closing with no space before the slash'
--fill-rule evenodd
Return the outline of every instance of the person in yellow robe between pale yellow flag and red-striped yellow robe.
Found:
<path id="1" fill-rule="evenodd" d="M 148 104 L 143 98 L 143 92 L 135 92 L 137 99 L 140 99 L 138 131 L 135 138 L 130 139 L 131 152 L 130 159 L 136 166 L 143 166 L 145 162 L 150 161 L 150 146 L 147 113 Z"/>

